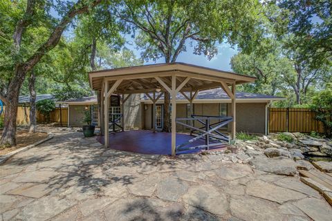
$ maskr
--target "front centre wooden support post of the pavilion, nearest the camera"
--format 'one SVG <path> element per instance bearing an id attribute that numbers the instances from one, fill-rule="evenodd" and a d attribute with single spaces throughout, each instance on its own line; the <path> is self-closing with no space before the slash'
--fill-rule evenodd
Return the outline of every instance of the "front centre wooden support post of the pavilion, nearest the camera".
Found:
<path id="1" fill-rule="evenodd" d="M 180 88 L 181 89 L 181 88 Z M 176 148 L 176 76 L 172 76 L 172 156 L 175 156 Z"/>

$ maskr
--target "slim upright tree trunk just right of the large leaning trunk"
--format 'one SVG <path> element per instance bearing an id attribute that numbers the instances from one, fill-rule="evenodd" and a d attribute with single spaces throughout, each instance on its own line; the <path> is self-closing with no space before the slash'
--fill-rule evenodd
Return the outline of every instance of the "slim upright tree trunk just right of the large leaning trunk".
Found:
<path id="1" fill-rule="evenodd" d="M 32 70 L 30 79 L 29 79 L 29 90 L 30 90 L 30 130 L 29 130 L 29 133 L 37 132 L 35 81 L 36 81 L 35 73 Z"/>

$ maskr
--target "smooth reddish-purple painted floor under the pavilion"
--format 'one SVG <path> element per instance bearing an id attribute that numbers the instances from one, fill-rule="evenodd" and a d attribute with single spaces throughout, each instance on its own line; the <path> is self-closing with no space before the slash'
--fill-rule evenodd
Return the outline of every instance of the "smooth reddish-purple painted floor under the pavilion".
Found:
<path id="1" fill-rule="evenodd" d="M 153 131 L 124 131 L 119 133 L 109 134 L 109 148 L 116 149 L 119 151 L 129 151 L 134 153 L 145 153 L 145 154 L 158 154 L 158 155 L 171 155 L 171 133 L 161 133 Z M 193 136 L 176 133 L 176 146 L 187 142 L 192 139 Z M 98 142 L 104 144 L 104 136 L 97 138 Z M 211 143 L 211 142 L 210 142 Z M 186 147 L 204 145 L 205 140 L 199 139 L 191 144 L 187 144 Z M 219 148 L 225 148 L 225 146 L 216 146 L 210 148 L 215 150 Z M 176 154 L 184 153 L 195 153 L 202 149 L 194 149 L 188 151 L 181 151 Z"/>

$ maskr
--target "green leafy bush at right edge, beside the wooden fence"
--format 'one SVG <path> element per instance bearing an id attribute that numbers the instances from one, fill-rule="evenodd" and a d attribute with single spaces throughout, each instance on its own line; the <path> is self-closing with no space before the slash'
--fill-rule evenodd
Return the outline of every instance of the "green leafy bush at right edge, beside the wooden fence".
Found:
<path id="1" fill-rule="evenodd" d="M 326 137 L 332 137 L 332 86 L 320 91 L 311 104 L 311 109 L 316 113 L 316 119 L 322 122 Z"/>

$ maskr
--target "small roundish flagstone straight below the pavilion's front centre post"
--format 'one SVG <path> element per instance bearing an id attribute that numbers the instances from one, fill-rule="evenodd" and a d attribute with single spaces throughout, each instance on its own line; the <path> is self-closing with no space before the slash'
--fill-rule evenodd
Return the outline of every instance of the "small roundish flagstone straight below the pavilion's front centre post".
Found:
<path id="1" fill-rule="evenodd" d="M 156 195 L 160 199 L 176 202 L 187 189 L 188 185 L 186 182 L 174 177 L 165 177 L 159 182 Z"/>

